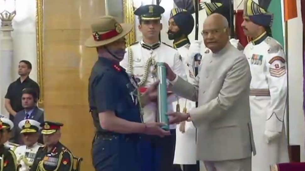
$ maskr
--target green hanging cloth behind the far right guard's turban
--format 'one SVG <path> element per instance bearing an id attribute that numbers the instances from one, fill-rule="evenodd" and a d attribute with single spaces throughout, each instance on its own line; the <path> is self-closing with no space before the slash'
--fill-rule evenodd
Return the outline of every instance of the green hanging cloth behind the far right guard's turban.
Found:
<path id="1" fill-rule="evenodd" d="M 272 36 L 284 47 L 284 34 L 283 34 L 283 22 L 282 22 L 282 6 L 281 0 L 272 0 L 268 11 L 274 14 L 272 24 Z"/>

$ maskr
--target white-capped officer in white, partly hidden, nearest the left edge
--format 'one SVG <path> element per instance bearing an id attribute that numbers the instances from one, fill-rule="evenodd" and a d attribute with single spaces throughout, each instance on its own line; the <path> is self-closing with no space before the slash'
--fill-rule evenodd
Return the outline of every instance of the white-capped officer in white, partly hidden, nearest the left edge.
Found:
<path id="1" fill-rule="evenodd" d="M 15 150 L 16 147 L 18 147 L 18 144 L 9 142 L 8 140 L 11 138 L 11 133 L 14 128 L 14 123 L 9 120 L 4 115 L 0 115 L 0 118 L 2 120 L 2 127 L 3 127 L 3 137 L 1 139 L 1 142 L 4 143 L 5 147 L 10 148 L 11 150 Z"/>

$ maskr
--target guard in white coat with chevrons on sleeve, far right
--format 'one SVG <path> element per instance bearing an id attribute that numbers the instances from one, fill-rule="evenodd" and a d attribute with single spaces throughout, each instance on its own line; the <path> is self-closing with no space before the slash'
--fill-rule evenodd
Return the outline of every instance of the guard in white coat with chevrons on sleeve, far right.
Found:
<path id="1" fill-rule="evenodd" d="M 267 171 L 270 165 L 289 162 L 284 119 L 287 101 L 286 58 L 282 46 L 271 36 L 273 14 L 246 0 L 245 35 L 252 41 L 244 54 L 250 65 L 250 109 L 257 155 L 252 171 Z"/>

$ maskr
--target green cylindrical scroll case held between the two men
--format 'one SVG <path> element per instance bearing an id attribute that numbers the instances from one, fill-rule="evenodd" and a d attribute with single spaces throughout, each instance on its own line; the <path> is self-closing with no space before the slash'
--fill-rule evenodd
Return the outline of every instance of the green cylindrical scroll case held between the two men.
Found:
<path id="1" fill-rule="evenodd" d="M 167 85 L 166 85 L 166 67 L 164 62 L 157 63 L 157 75 L 160 83 L 158 85 L 158 118 L 164 130 L 169 130 L 169 118 L 167 116 Z"/>

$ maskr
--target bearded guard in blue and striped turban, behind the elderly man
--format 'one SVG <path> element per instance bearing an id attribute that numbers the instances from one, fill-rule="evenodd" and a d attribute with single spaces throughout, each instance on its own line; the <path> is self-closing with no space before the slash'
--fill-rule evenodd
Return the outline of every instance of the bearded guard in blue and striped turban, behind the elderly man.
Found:
<path id="1" fill-rule="evenodd" d="M 191 13 L 182 8 L 171 10 L 168 38 L 169 40 L 174 40 L 173 46 L 181 55 L 187 81 L 191 84 L 196 84 L 192 63 L 188 62 L 187 56 L 190 47 L 188 35 L 193 28 L 194 18 Z M 196 103 L 177 96 L 177 101 L 173 102 L 173 106 L 176 106 L 177 112 L 187 113 L 188 110 L 196 107 Z M 192 122 L 183 121 L 177 125 L 174 164 L 183 165 L 183 171 L 196 171 L 197 169 L 196 128 Z"/>

